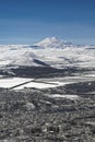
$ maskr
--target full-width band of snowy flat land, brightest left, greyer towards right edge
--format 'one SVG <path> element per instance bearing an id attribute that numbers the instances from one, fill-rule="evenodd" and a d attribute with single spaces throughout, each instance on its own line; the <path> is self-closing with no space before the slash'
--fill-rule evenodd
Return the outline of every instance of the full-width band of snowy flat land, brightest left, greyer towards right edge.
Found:
<path id="1" fill-rule="evenodd" d="M 64 78 L 50 79 L 28 79 L 28 78 L 0 78 L 0 87 L 14 90 L 23 90 L 24 87 L 49 88 L 56 86 L 64 86 L 66 84 L 73 84 L 79 82 L 95 81 L 95 72 L 90 71 L 84 74 L 74 74 Z"/>

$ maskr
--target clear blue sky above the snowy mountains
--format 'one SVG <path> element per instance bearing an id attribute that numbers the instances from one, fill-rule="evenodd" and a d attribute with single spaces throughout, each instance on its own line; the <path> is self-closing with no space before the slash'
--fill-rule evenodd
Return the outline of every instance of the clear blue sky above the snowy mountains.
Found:
<path id="1" fill-rule="evenodd" d="M 95 44 L 95 0 L 0 0 L 0 45 L 50 36 Z"/>

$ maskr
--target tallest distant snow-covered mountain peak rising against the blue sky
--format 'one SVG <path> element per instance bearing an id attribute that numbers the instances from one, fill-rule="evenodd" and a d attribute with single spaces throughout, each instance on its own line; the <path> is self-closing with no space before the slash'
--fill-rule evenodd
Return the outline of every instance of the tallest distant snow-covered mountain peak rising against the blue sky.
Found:
<path id="1" fill-rule="evenodd" d="M 37 43 L 36 45 L 44 48 L 64 48 L 66 46 L 70 46 L 71 43 L 61 40 L 57 37 L 47 37 L 44 40 Z"/>

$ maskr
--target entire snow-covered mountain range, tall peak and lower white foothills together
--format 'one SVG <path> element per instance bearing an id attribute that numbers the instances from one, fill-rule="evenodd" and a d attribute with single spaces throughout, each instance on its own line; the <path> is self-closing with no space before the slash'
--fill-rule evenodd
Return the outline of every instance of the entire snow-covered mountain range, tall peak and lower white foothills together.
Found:
<path id="1" fill-rule="evenodd" d="M 56 37 L 29 45 L 0 46 L 0 68 L 50 66 L 54 68 L 95 66 L 95 46 L 76 46 Z"/>

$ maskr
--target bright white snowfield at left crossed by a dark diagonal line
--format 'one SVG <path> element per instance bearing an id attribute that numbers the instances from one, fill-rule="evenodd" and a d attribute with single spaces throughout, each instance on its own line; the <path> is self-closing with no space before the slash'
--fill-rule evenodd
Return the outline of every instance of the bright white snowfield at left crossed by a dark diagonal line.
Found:
<path id="1" fill-rule="evenodd" d="M 41 82 L 34 81 L 34 79 L 26 79 L 26 78 L 0 79 L 0 87 L 10 88 L 20 85 L 14 87 L 14 90 L 23 90 L 24 87 L 48 88 L 48 87 L 56 87 L 66 84 L 69 84 L 69 82 L 45 82 L 45 83 L 43 82 L 41 83 Z"/>

